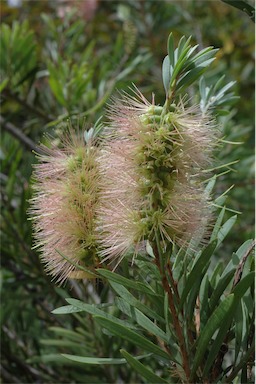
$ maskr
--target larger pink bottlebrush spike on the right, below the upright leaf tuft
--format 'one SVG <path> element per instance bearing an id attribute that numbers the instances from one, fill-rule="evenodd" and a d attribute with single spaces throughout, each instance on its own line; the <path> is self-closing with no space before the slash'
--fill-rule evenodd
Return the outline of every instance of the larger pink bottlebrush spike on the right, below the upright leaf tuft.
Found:
<path id="1" fill-rule="evenodd" d="M 109 117 L 99 160 L 101 258 L 117 265 L 157 232 L 164 247 L 187 244 L 210 216 L 200 174 L 211 159 L 213 122 L 182 101 L 165 112 L 137 89 L 116 101 Z"/>

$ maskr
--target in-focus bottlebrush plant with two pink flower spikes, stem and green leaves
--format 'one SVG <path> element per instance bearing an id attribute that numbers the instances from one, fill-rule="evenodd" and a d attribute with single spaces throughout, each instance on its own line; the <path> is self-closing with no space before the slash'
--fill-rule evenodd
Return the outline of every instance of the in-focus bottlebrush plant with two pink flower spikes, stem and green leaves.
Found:
<path id="1" fill-rule="evenodd" d="M 190 40 L 175 48 L 169 36 L 164 105 L 136 87 L 121 93 L 100 138 L 91 129 L 84 143 L 66 140 L 35 166 L 32 215 L 48 272 L 61 282 L 93 275 L 99 295 L 97 281 L 111 288 L 105 302 L 68 298 L 53 311 L 87 313 L 101 332 L 98 355 L 63 357 L 103 372 L 117 365 L 120 374 L 102 382 L 128 369 L 130 382 L 253 380 L 254 241 L 218 260 L 236 216 L 226 219 L 225 193 L 211 197 L 217 115 L 235 99 L 233 82 L 207 86 L 216 50 Z M 188 87 L 198 80 L 196 103 Z"/>

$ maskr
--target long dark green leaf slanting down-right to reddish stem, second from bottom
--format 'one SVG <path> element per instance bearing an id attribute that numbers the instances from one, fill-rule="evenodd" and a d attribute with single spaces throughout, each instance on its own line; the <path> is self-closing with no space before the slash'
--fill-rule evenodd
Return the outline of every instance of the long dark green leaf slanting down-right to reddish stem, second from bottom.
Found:
<path id="1" fill-rule="evenodd" d="M 152 343 L 149 339 L 141 334 L 134 332 L 123 325 L 117 324 L 109 319 L 100 316 L 94 316 L 94 319 L 103 327 L 110 331 L 113 335 L 128 340 L 137 347 L 152 352 L 157 356 L 169 359 L 170 356 L 160 347 Z"/>

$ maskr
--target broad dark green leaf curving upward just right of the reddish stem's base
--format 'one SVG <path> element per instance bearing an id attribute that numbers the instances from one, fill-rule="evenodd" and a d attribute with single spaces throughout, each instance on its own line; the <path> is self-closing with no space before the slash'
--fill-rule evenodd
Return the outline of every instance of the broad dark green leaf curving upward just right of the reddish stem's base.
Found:
<path id="1" fill-rule="evenodd" d="M 193 362 L 192 376 L 196 373 L 198 366 L 200 365 L 202 358 L 209 346 L 209 342 L 213 334 L 221 326 L 222 322 L 226 321 L 230 311 L 234 305 L 235 296 L 233 294 L 227 296 L 220 305 L 215 309 L 213 314 L 207 321 L 204 329 L 201 331 L 196 345 L 196 353 Z"/>

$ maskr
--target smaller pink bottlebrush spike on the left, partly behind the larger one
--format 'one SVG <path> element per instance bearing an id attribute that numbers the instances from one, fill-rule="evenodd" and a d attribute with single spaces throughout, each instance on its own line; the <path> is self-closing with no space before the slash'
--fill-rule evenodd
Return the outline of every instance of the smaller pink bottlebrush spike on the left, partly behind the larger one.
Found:
<path id="1" fill-rule="evenodd" d="M 62 149 L 45 148 L 45 155 L 39 156 L 30 210 L 46 270 L 60 283 L 67 278 L 93 277 L 79 266 L 93 272 L 97 263 L 99 195 L 97 147 L 85 145 L 74 133 L 62 144 Z"/>

